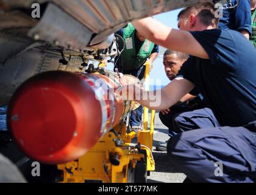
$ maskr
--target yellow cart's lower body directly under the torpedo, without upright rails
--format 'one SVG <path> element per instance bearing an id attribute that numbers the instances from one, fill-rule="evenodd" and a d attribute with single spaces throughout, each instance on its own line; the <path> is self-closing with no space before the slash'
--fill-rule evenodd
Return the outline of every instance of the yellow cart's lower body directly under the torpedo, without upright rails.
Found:
<path id="1" fill-rule="evenodd" d="M 126 123 L 115 127 L 116 133 L 108 132 L 90 151 L 77 161 L 58 165 L 62 170 L 64 183 L 104 182 L 127 183 L 129 164 L 135 169 L 136 162 L 144 158 L 144 154 L 138 153 L 138 149 L 129 147 L 135 133 L 126 133 Z M 125 140 L 127 147 L 116 147 L 114 138 Z M 112 165 L 110 153 L 117 154 L 119 165 Z"/>

